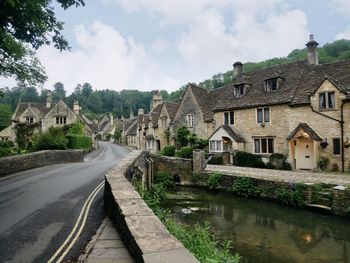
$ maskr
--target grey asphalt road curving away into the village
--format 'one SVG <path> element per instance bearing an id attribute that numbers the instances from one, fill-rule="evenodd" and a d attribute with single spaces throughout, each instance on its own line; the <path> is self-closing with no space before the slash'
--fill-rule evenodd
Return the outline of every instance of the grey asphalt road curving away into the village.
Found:
<path id="1" fill-rule="evenodd" d="M 62 245 L 106 171 L 129 151 L 100 143 L 103 151 L 84 163 L 51 165 L 0 178 L 0 262 L 47 262 Z M 92 203 L 75 259 L 103 218 L 103 188 Z"/>

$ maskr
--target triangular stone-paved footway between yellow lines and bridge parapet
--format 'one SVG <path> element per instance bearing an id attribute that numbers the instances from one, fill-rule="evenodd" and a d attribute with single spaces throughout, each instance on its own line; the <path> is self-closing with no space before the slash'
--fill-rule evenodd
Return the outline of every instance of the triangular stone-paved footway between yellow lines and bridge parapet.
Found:
<path id="1" fill-rule="evenodd" d="M 133 263 L 112 222 L 105 218 L 78 259 L 79 263 Z"/>

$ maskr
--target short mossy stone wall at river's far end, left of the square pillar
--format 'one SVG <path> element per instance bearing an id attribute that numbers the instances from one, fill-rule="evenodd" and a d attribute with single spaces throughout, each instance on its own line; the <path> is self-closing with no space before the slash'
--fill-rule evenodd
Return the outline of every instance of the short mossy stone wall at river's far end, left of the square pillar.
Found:
<path id="1" fill-rule="evenodd" d="M 178 175 L 181 183 L 190 180 L 193 169 L 192 160 L 156 154 L 152 154 L 150 157 L 153 160 L 154 174 L 158 172 L 167 172 L 172 175 Z"/>

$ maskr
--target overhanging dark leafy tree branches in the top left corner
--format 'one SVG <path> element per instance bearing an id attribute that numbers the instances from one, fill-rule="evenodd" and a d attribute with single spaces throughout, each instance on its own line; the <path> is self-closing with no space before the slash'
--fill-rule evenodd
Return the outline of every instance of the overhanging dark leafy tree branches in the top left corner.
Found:
<path id="1" fill-rule="evenodd" d="M 84 0 L 56 0 L 63 9 Z M 0 1 L 0 75 L 36 85 L 47 79 L 35 51 L 42 45 L 69 50 L 61 35 L 63 23 L 55 17 L 52 1 Z"/>

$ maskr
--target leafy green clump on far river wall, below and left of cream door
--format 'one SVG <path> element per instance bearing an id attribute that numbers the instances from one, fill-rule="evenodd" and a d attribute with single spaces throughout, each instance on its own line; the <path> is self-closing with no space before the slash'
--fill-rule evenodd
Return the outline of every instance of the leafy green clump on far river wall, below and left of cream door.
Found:
<path id="1" fill-rule="evenodd" d="M 293 207 L 304 207 L 305 197 L 304 191 L 306 186 L 303 184 L 291 185 L 290 189 L 279 189 L 276 191 L 276 198 L 284 205 Z"/>

